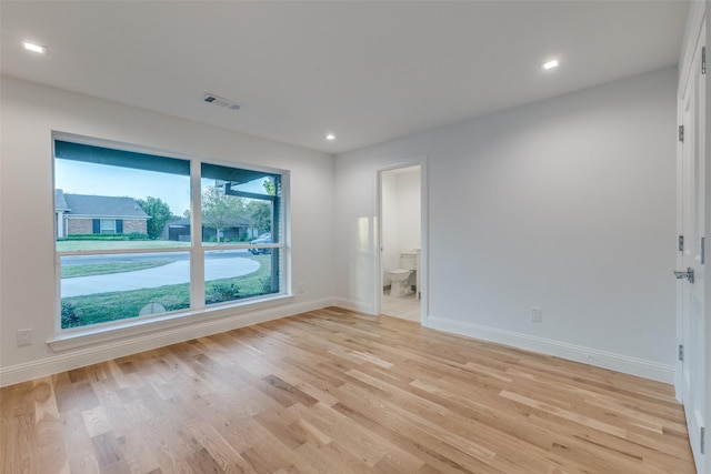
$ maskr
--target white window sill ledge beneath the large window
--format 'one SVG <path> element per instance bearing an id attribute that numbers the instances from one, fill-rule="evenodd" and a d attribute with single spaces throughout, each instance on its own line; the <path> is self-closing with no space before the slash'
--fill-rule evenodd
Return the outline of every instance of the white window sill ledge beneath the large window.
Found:
<path id="1" fill-rule="evenodd" d="M 293 295 L 284 294 L 256 302 L 240 302 L 230 305 L 220 305 L 218 307 L 204 307 L 150 319 L 130 319 L 111 325 L 99 327 L 89 326 L 87 329 L 66 332 L 47 341 L 47 344 L 54 352 L 63 352 L 127 337 L 149 340 L 161 335 L 166 330 L 204 324 L 208 322 L 219 322 L 228 316 L 248 315 L 270 307 L 290 304 L 293 300 Z"/>

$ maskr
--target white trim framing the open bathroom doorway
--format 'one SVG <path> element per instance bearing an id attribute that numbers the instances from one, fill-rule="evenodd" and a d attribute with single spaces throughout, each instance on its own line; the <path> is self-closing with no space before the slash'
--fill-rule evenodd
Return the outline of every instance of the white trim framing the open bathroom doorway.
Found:
<path id="1" fill-rule="evenodd" d="M 428 155 L 415 154 L 403 158 L 401 161 L 390 163 L 375 170 L 375 219 L 374 219 L 374 236 L 375 236 L 375 265 L 374 265 L 374 301 L 373 313 L 380 315 L 382 312 L 382 174 L 388 171 L 394 171 L 402 168 L 420 167 L 420 325 L 427 325 L 429 315 L 429 173 L 428 173 Z"/>

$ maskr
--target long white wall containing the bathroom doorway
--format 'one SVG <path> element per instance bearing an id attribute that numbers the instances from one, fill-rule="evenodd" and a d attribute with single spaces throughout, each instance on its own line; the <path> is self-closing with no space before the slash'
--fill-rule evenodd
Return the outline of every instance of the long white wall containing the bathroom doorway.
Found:
<path id="1" fill-rule="evenodd" d="M 337 157 L 338 301 L 373 307 L 375 170 L 427 154 L 428 325 L 671 382 L 675 84 L 668 69 Z"/>

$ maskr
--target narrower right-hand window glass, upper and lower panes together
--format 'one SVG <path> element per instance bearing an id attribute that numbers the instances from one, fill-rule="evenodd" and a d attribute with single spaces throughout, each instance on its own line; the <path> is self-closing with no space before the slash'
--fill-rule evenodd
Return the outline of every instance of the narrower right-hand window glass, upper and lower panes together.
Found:
<path id="1" fill-rule="evenodd" d="M 281 177 L 209 163 L 201 173 L 206 304 L 279 293 Z"/>

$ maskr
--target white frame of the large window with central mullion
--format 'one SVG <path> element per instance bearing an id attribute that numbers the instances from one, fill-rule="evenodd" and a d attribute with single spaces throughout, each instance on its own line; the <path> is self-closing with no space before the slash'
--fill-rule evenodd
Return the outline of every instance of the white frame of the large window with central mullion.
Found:
<path id="1" fill-rule="evenodd" d="M 57 231 L 58 223 L 56 218 L 56 196 L 52 192 L 52 213 L 51 219 L 53 222 L 53 235 L 52 240 L 53 254 L 54 254 L 54 339 L 48 341 L 50 346 L 54 350 L 70 349 L 83 346 L 81 340 L 86 340 L 87 344 L 92 343 L 97 334 L 100 340 L 111 340 L 114 337 L 121 337 L 123 333 L 136 333 L 141 327 L 147 330 L 158 326 L 172 327 L 177 324 L 184 324 L 184 319 L 192 319 L 197 321 L 203 321 L 204 319 L 220 317 L 229 314 L 244 313 L 248 311 L 260 310 L 262 307 L 270 307 L 274 304 L 284 304 L 293 300 L 291 291 L 291 252 L 290 252 L 290 171 L 283 169 L 274 169 L 270 167 L 261 167 L 254 164 L 247 164 L 241 162 L 227 162 L 217 161 L 212 159 L 201 159 L 196 155 L 184 155 L 182 153 L 176 153 L 172 151 L 157 150 L 146 145 L 128 144 L 122 142 L 116 142 L 110 140 L 102 140 L 97 138 L 89 138 L 83 135 L 77 135 L 66 132 L 52 132 L 51 150 L 52 150 L 52 184 L 57 189 L 54 162 L 58 159 L 54 151 L 54 144 L 57 141 L 68 141 L 78 144 L 88 144 L 92 147 L 101 147 L 111 150 L 120 150 L 132 153 L 149 153 L 158 157 L 187 160 L 190 164 L 190 213 L 191 213 L 191 235 L 190 244 L 176 245 L 161 249 L 120 249 L 120 250 L 81 250 L 81 251 L 60 251 L 57 249 Z M 244 299 L 238 299 L 232 301 L 224 301 L 219 303 L 206 304 L 206 280 L 204 280 L 204 256 L 206 252 L 222 251 L 222 250 L 243 250 L 253 249 L 256 245 L 244 243 L 220 243 L 219 245 L 209 245 L 208 242 L 202 242 L 202 216 L 201 216 L 201 167 L 203 163 L 214 164 L 219 167 L 233 168 L 238 170 L 248 170 L 254 172 L 262 172 L 267 174 L 277 174 L 281 181 L 281 196 L 280 196 L 280 228 L 281 239 L 278 243 L 260 244 L 258 248 L 278 249 L 280 254 L 280 269 L 279 269 L 279 291 L 276 293 L 268 293 L 263 295 L 250 296 Z M 131 167 L 126 167 L 131 168 Z M 113 233 L 116 233 L 116 223 Z M 196 231 L 196 229 L 200 231 Z M 147 316 L 133 316 L 117 321 L 102 322 L 97 324 L 89 324 L 77 327 L 62 327 L 61 322 L 61 258 L 71 255 L 97 255 L 97 254 L 141 254 L 141 253 L 161 253 L 161 252 L 186 252 L 190 260 L 190 306 L 177 311 L 164 312 L 156 315 Z M 103 334 L 103 335 L 102 335 Z M 108 336 L 107 336 L 108 334 Z"/>

